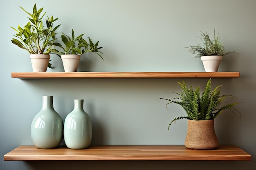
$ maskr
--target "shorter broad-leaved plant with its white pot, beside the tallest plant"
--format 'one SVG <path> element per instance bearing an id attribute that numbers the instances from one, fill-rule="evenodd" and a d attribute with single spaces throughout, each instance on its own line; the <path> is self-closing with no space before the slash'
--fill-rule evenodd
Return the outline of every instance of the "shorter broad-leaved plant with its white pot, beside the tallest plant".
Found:
<path id="1" fill-rule="evenodd" d="M 57 54 L 61 54 L 61 59 L 63 62 L 63 67 L 65 72 L 75 72 L 79 66 L 79 60 L 81 59 L 81 55 L 87 52 L 94 52 L 99 55 L 102 60 L 103 57 L 100 55 L 99 49 L 102 47 L 97 47 L 99 41 L 95 44 L 89 38 L 89 44 L 83 39 L 83 35 L 81 34 L 75 38 L 74 30 L 72 29 L 72 38 L 68 35 L 62 33 L 61 41 L 64 45 L 59 44 L 58 46 L 63 50 L 63 52 L 56 51 Z M 101 53 L 103 54 L 103 53 Z"/>

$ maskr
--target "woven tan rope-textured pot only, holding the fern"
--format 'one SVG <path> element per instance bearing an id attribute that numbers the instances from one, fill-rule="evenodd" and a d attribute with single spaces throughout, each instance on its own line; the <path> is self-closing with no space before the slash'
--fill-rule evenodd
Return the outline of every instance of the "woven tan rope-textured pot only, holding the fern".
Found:
<path id="1" fill-rule="evenodd" d="M 188 120 L 185 146 L 189 149 L 216 149 L 219 146 L 212 120 Z"/>

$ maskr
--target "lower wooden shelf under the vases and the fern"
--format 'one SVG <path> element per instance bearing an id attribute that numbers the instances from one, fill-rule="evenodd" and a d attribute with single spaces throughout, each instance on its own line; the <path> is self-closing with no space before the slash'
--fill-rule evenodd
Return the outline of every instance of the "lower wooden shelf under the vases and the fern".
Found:
<path id="1" fill-rule="evenodd" d="M 32 160 L 233 160 L 249 161 L 251 155 L 237 146 L 219 146 L 215 150 L 191 150 L 181 145 L 90 146 L 73 150 L 65 146 L 38 149 L 19 146 L 4 155 L 4 161 Z"/>

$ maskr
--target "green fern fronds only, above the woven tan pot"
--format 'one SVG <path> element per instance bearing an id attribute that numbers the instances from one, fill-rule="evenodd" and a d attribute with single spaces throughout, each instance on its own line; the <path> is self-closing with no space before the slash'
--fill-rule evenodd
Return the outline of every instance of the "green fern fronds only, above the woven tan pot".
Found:
<path id="1" fill-rule="evenodd" d="M 168 103 L 166 104 L 166 108 L 168 104 L 175 103 L 186 111 L 187 116 L 184 117 L 176 117 L 171 121 L 171 123 L 168 126 L 168 130 L 175 121 L 180 119 L 190 119 L 190 120 L 210 120 L 215 119 L 220 115 L 224 110 L 229 109 L 234 114 L 235 111 L 240 114 L 234 106 L 241 102 L 235 102 L 231 104 L 224 104 L 224 100 L 226 98 L 235 98 L 233 95 L 221 95 L 219 90 L 219 87 L 221 85 L 217 86 L 216 88 L 211 91 L 211 78 L 208 80 L 206 84 L 205 90 L 200 95 L 200 87 L 198 86 L 195 90 L 193 89 L 193 86 L 191 85 L 190 88 L 187 87 L 186 83 L 184 81 L 178 82 L 180 87 L 182 88 L 182 92 L 176 93 L 172 92 L 174 94 L 177 94 L 178 96 L 173 99 L 166 99 L 166 98 L 159 98 L 167 100 Z M 167 108 L 168 109 L 168 108 Z"/>

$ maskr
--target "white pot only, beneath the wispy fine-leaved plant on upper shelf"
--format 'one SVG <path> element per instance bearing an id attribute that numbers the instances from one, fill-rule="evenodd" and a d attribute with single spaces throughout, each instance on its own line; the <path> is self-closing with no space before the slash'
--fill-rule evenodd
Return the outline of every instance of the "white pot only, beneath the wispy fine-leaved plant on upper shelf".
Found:
<path id="1" fill-rule="evenodd" d="M 219 69 L 222 55 L 202 56 L 201 60 L 204 64 L 204 70 L 206 72 L 216 72 Z"/>

